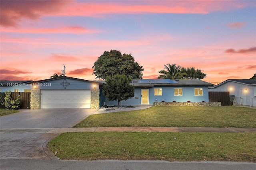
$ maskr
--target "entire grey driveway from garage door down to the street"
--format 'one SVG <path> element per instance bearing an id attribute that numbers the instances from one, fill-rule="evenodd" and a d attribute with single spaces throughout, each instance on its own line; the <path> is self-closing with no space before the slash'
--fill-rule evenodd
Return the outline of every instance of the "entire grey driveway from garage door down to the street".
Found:
<path id="1" fill-rule="evenodd" d="M 56 158 L 47 143 L 60 133 L 46 133 L 53 128 L 74 126 L 96 110 L 91 109 L 40 109 L 22 110 L 0 117 L 0 159 L 52 159 Z M 12 132 L 4 129 L 11 128 Z M 24 132 L 15 128 L 45 128 Z"/>

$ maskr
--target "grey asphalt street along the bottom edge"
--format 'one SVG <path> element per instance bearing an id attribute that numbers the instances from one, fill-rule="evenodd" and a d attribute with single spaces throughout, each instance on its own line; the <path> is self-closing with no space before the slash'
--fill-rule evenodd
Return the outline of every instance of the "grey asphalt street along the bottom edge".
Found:
<path id="1" fill-rule="evenodd" d="M 255 170 L 250 162 L 168 162 L 152 160 L 4 159 L 1 170 Z"/>

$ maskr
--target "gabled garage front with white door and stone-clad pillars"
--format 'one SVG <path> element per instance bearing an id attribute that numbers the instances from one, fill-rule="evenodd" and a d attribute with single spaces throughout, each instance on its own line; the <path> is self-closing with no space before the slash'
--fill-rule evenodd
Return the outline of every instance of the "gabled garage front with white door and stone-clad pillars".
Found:
<path id="1" fill-rule="evenodd" d="M 28 83 L 31 109 L 99 109 L 102 83 L 56 77 Z"/>

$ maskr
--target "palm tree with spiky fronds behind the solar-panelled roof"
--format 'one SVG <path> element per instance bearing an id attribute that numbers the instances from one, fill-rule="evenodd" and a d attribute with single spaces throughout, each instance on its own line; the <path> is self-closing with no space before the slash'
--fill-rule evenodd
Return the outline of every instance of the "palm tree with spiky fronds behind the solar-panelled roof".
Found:
<path id="1" fill-rule="evenodd" d="M 181 79 L 186 73 L 181 72 L 181 66 L 176 64 L 167 64 L 164 65 L 164 69 L 166 70 L 161 70 L 158 73 L 161 75 L 158 76 L 158 79 Z"/>

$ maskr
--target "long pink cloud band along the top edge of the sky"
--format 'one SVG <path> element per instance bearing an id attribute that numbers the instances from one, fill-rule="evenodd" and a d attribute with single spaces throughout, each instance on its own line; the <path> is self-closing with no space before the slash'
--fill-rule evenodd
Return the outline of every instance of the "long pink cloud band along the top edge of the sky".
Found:
<path id="1" fill-rule="evenodd" d="M 17 27 L 23 18 L 38 20 L 42 16 L 106 16 L 106 14 L 179 13 L 207 14 L 212 11 L 255 6 L 242 1 L 80 1 L 1 0 L 2 26 Z"/>

